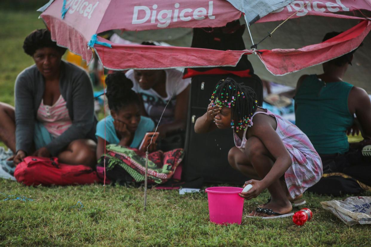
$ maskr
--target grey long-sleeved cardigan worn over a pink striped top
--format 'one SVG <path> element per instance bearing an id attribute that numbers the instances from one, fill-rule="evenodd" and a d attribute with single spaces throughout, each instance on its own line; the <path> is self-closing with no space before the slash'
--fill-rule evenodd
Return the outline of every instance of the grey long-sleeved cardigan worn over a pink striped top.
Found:
<path id="1" fill-rule="evenodd" d="M 45 90 L 44 77 L 32 65 L 17 76 L 14 86 L 16 114 L 16 150 L 30 155 L 37 110 Z M 46 148 L 57 156 L 68 144 L 77 139 L 95 140 L 96 118 L 94 115 L 93 89 L 88 74 L 78 66 L 61 61 L 59 90 L 66 101 L 72 125 Z"/>

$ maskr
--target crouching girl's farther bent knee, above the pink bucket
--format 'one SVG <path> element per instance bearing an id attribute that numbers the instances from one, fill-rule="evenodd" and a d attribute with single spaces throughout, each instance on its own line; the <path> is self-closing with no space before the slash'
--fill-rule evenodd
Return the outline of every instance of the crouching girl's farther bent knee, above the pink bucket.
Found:
<path id="1" fill-rule="evenodd" d="M 240 171 L 247 178 L 260 180 L 254 167 L 249 163 L 246 154 L 242 153 L 237 147 L 232 147 L 228 153 L 228 161 L 233 169 Z"/>

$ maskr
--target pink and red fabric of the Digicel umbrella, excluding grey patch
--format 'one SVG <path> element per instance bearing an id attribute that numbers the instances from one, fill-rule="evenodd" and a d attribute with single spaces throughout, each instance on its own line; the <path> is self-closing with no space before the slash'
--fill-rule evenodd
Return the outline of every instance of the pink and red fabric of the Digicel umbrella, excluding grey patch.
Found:
<path id="1" fill-rule="evenodd" d="M 287 18 L 286 16 L 291 14 L 290 8 L 292 10 L 300 4 L 299 2 L 302 1 L 293 1 L 290 7 L 285 7 L 287 11 L 284 8 L 278 13 L 269 14 L 260 22 L 274 18 L 275 20 Z M 354 0 L 312 1 L 311 4 L 313 11 L 318 9 L 320 11 L 317 12 L 322 13 L 321 15 L 326 14 L 326 10 L 321 12 L 324 8 L 321 4 L 331 12 L 327 14 L 333 14 L 335 9 L 371 10 L 368 0 L 357 0 L 357 4 Z M 340 7 L 336 7 L 335 4 Z M 140 3 L 125 1 L 125 4 L 121 0 L 68 0 L 65 6 L 68 11 L 64 19 L 61 17 L 62 6 L 63 0 L 55 0 L 41 14 L 41 17 L 51 30 L 53 40 L 61 46 L 68 47 L 74 53 L 81 54 L 87 61 L 92 58 L 91 48 L 87 43 L 93 34 L 101 31 L 217 27 L 224 26 L 228 21 L 238 19 L 240 16 L 240 11 L 224 0 L 181 0 L 175 4 L 173 1 L 155 2 L 154 0 L 142 0 Z M 306 6 L 307 9 L 308 6 L 309 4 Z M 316 13 L 309 11 L 307 14 Z M 168 18 L 163 19 L 166 16 Z M 344 15 L 336 15 L 336 17 L 353 18 Z M 263 50 L 259 57 L 271 73 L 283 75 L 322 63 L 355 49 L 369 31 L 370 22 L 363 21 L 362 24 L 342 34 L 342 39 L 333 40 L 331 43 L 315 44 L 298 50 Z M 98 37 L 98 41 L 110 43 L 101 37 Z M 93 49 L 104 67 L 114 70 L 235 66 L 243 54 L 251 54 L 248 50 L 218 51 L 188 47 L 110 44 L 112 48 L 95 44 Z"/>

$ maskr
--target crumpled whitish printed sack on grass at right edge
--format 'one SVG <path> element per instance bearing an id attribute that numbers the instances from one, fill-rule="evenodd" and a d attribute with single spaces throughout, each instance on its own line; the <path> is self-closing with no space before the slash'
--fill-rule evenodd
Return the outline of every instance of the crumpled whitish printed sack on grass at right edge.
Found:
<path id="1" fill-rule="evenodd" d="M 348 197 L 344 201 L 321 201 L 321 205 L 349 226 L 371 224 L 370 196 Z"/>

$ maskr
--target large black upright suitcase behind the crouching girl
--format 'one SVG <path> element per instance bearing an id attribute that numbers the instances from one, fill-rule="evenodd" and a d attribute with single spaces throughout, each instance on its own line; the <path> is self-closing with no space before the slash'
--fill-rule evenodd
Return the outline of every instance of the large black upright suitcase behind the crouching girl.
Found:
<path id="1" fill-rule="evenodd" d="M 183 163 L 183 180 L 185 181 L 203 177 L 205 182 L 242 184 L 248 180 L 228 163 L 228 152 L 234 146 L 232 128 L 214 130 L 205 134 L 194 132 L 194 122 L 206 112 L 215 85 L 219 80 L 227 77 L 252 87 L 257 94 L 259 106 L 262 105 L 262 81 L 255 74 L 252 77 L 243 78 L 232 74 L 193 77 Z"/>

